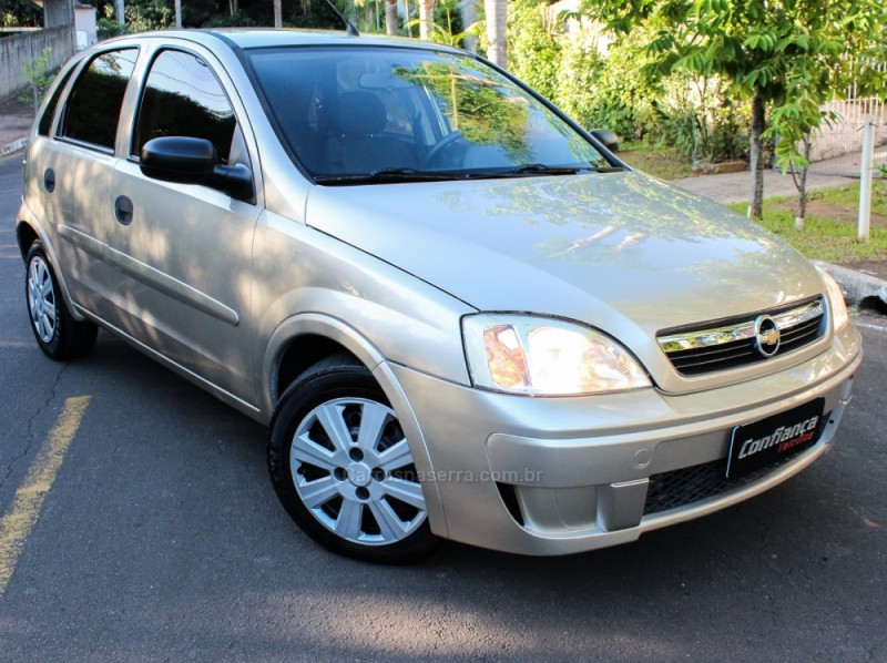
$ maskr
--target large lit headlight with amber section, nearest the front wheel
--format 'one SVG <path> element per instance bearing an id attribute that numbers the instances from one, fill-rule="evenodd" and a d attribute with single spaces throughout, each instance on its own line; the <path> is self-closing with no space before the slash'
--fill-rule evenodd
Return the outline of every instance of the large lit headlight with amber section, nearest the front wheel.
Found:
<path id="1" fill-rule="evenodd" d="M 650 387 L 641 365 L 612 338 L 574 323 L 529 315 L 462 318 L 476 387 L 534 396 L 578 396 Z"/>

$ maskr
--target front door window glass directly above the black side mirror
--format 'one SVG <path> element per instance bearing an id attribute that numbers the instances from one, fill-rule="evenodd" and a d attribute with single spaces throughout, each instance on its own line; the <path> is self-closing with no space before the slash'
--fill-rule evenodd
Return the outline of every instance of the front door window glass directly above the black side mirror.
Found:
<path id="1" fill-rule="evenodd" d="M 163 51 L 151 67 L 139 110 L 133 154 L 162 136 L 206 139 L 220 163 L 227 163 L 237 121 L 222 84 L 206 63 L 191 53 Z"/>

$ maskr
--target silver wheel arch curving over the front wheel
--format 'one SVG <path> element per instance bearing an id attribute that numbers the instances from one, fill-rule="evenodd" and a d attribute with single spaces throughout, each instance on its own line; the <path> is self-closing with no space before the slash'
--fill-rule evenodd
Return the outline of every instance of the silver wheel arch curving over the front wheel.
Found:
<path id="1" fill-rule="evenodd" d="M 305 345 L 302 345 L 305 344 Z M 295 315 L 278 325 L 267 344 L 262 361 L 262 410 L 267 424 L 279 396 L 307 368 L 336 353 L 348 353 L 366 366 L 388 398 L 409 440 L 416 469 L 435 477 L 431 457 L 419 421 L 402 386 L 379 349 L 344 320 L 319 313 Z M 288 380 L 285 384 L 282 380 Z M 422 483 L 431 530 L 447 537 L 447 523 L 437 483 Z"/>

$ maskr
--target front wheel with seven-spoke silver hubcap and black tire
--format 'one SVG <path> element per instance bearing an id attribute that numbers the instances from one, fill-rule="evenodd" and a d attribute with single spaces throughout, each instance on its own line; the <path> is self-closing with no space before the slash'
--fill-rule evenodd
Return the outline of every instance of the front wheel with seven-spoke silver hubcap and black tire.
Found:
<path id="1" fill-rule="evenodd" d="M 328 550 L 407 563 L 437 545 L 397 415 L 354 357 L 326 359 L 287 388 L 267 456 L 284 508 Z"/>

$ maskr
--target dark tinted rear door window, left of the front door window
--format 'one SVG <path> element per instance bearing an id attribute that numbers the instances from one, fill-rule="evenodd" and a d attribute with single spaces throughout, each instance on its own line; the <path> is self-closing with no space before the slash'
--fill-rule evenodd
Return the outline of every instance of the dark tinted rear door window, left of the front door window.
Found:
<path id="1" fill-rule="evenodd" d="M 137 55 L 137 49 L 122 49 L 93 58 L 74 83 L 62 135 L 114 149 L 120 108 Z"/>

